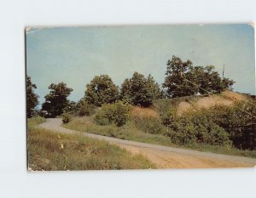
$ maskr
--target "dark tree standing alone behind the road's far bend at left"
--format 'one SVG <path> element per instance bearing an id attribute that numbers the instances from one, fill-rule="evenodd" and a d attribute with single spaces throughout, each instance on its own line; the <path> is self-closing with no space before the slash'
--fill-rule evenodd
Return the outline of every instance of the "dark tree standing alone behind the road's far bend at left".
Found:
<path id="1" fill-rule="evenodd" d="M 45 102 L 42 105 L 42 111 L 45 112 L 47 117 L 61 116 L 63 110 L 71 105 L 67 96 L 73 89 L 67 88 L 67 84 L 64 82 L 51 83 L 49 89 L 49 94 L 44 96 Z"/>

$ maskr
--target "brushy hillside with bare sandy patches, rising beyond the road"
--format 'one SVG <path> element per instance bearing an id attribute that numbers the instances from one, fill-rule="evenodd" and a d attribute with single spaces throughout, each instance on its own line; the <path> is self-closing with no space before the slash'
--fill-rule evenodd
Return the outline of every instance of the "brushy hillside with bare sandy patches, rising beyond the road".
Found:
<path id="1" fill-rule="evenodd" d="M 128 121 L 121 127 L 113 123 L 98 124 L 97 113 L 73 117 L 63 127 L 116 139 L 256 157 L 253 117 L 250 116 L 255 115 L 255 105 L 246 95 L 225 91 L 158 99 L 149 108 L 133 106 Z"/>

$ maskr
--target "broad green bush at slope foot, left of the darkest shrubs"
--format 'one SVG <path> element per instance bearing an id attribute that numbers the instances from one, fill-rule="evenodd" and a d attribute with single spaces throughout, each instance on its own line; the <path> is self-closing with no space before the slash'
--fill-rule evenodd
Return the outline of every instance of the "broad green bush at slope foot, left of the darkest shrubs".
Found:
<path id="1" fill-rule="evenodd" d="M 213 122 L 206 110 L 190 111 L 183 116 L 170 110 L 163 122 L 171 129 L 166 135 L 176 144 L 231 144 L 229 133 Z"/>

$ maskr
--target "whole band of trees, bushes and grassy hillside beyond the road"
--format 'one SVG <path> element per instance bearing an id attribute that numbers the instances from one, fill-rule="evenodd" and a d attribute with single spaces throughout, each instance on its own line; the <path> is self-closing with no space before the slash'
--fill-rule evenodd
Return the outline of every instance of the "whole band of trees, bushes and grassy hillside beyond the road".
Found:
<path id="1" fill-rule="evenodd" d="M 120 88 L 110 76 L 100 75 L 76 103 L 67 99 L 72 88 L 52 83 L 38 115 L 61 116 L 64 127 L 81 132 L 256 157 L 256 102 L 233 93 L 234 83 L 220 77 L 213 65 L 194 66 L 172 56 L 161 87 L 153 76 L 137 71 Z M 36 85 L 30 87 L 28 93 Z M 27 100 L 32 101 L 28 117 L 37 114 L 38 97 L 32 99 Z"/>

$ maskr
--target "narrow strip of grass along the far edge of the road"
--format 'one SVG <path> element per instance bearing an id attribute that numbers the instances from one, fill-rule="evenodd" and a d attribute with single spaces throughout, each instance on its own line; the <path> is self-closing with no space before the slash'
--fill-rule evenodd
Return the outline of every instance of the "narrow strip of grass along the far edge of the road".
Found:
<path id="1" fill-rule="evenodd" d="M 79 132 L 96 133 L 117 139 L 127 139 L 149 144 L 160 144 L 184 149 L 201 150 L 230 156 L 256 157 L 255 150 L 238 150 L 236 148 L 209 144 L 177 145 L 172 143 L 172 139 L 162 134 L 143 132 L 143 130 L 138 129 L 132 121 L 128 122 L 123 127 L 116 127 L 113 125 L 99 126 L 93 121 L 93 117 L 84 116 L 74 117 L 72 122 L 63 124 L 62 126 Z"/>

